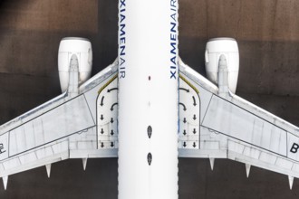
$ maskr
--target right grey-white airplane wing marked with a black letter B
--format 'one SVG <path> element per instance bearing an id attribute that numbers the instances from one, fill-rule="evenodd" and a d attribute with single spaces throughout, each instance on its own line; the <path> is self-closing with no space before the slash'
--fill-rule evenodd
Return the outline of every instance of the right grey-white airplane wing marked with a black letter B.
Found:
<path id="1" fill-rule="evenodd" d="M 299 129 L 233 93 L 219 96 L 214 84 L 179 65 L 186 107 L 179 109 L 179 156 L 207 157 L 212 167 L 214 158 L 229 158 L 245 163 L 247 175 L 250 166 L 262 167 L 288 175 L 292 187 L 299 177 Z"/>

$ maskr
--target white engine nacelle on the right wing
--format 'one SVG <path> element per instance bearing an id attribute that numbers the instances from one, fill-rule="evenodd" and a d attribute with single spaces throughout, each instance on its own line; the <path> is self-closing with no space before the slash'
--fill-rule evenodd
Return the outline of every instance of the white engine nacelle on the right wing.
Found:
<path id="1" fill-rule="evenodd" d="M 227 59 L 228 88 L 235 93 L 239 73 L 239 51 L 235 39 L 223 37 L 207 42 L 205 53 L 207 79 L 218 84 L 218 62 L 221 54 Z"/>

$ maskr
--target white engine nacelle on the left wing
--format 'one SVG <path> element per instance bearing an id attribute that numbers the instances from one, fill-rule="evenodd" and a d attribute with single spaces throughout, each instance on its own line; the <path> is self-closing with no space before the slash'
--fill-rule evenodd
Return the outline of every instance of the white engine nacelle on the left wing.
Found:
<path id="1" fill-rule="evenodd" d="M 63 38 L 58 50 L 59 80 L 63 92 L 68 89 L 72 54 L 78 58 L 79 85 L 87 81 L 92 74 L 92 43 L 80 37 Z"/>

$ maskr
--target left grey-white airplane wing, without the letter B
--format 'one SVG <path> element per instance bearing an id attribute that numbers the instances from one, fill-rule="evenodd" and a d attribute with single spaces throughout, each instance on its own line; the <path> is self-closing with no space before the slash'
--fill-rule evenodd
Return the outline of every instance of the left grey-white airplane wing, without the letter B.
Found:
<path id="1" fill-rule="evenodd" d="M 64 92 L 0 127 L 0 176 L 5 187 L 8 175 L 37 166 L 46 166 L 50 175 L 51 164 L 63 159 L 82 158 L 85 167 L 89 157 L 117 156 L 117 138 L 103 132 L 115 128 L 111 119 L 117 121 L 117 111 L 111 110 L 117 92 L 107 92 L 117 89 L 117 70 L 114 62 L 85 82 L 77 96 Z M 106 142 L 110 145 L 101 147 Z"/>

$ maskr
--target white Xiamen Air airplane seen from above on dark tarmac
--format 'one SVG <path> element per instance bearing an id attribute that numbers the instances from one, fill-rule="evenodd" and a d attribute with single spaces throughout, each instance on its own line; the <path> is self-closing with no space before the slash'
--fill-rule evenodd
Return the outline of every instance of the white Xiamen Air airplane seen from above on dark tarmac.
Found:
<path id="1" fill-rule="evenodd" d="M 121 11 L 122 6 L 126 11 Z M 174 6 L 170 5 L 173 11 L 171 8 Z M 229 71 L 229 67 L 238 62 L 234 59 L 236 41 L 218 38 L 207 43 L 207 71 L 216 67 L 207 72 L 207 81 L 178 58 L 177 10 L 170 13 L 175 14 L 170 17 L 173 21 L 149 22 L 140 30 L 137 27 L 144 28 L 147 16 L 143 14 L 139 22 L 140 17 L 130 15 L 140 14 L 133 9 L 135 5 L 128 0 L 120 2 L 119 58 L 89 80 L 90 43 L 82 38 L 63 39 L 59 51 L 63 94 L 1 127 L 5 187 L 8 175 L 30 168 L 46 166 L 50 175 L 51 164 L 66 158 L 82 158 L 86 166 L 87 158 L 111 156 L 120 161 L 120 198 L 128 198 L 126 194 L 130 198 L 131 194 L 178 197 L 178 156 L 209 158 L 212 167 L 215 158 L 233 159 L 246 164 L 248 175 L 250 166 L 259 166 L 288 175 L 292 187 L 297 177 L 297 128 L 234 94 L 236 71 Z M 144 46 L 144 38 L 152 36 L 148 30 L 164 33 L 165 27 L 169 27 L 166 36 L 170 41 L 163 39 L 164 34 L 163 38 L 155 35 L 156 42 Z M 222 49 L 213 52 L 208 46 L 213 43 L 221 48 L 231 46 L 233 56 Z M 159 51 L 157 46 L 161 46 Z M 154 59 L 149 59 L 148 52 Z M 164 54 L 171 64 L 167 69 L 160 67 L 166 60 Z M 171 174 L 161 177 L 165 172 Z M 143 181 L 155 185 L 149 188 L 146 183 L 136 183 Z M 160 185 L 169 188 L 161 190 Z"/>

